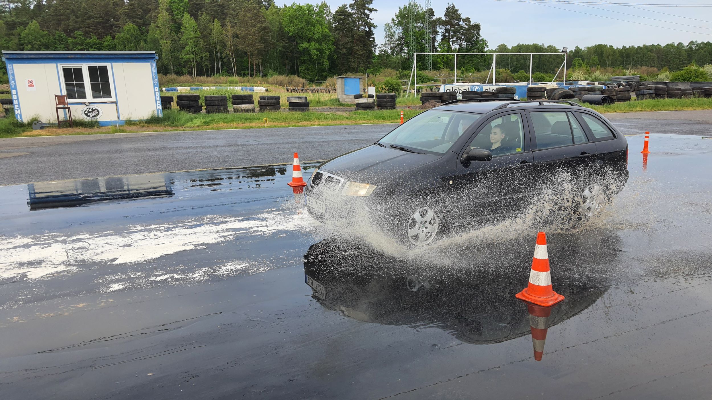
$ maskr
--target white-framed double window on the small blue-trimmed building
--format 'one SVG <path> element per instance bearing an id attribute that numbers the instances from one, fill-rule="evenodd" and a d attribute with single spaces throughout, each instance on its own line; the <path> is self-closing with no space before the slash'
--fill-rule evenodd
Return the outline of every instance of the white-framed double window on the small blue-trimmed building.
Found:
<path id="1" fill-rule="evenodd" d="M 108 65 L 63 65 L 68 100 L 113 100 Z"/>

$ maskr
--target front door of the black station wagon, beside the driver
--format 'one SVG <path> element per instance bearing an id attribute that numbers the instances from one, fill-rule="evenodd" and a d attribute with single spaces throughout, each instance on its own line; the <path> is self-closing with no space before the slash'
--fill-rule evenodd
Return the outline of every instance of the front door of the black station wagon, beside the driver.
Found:
<path id="1" fill-rule="evenodd" d="M 498 147 L 491 137 L 503 132 Z M 459 158 L 473 147 L 490 149 L 490 161 L 457 162 L 456 175 L 451 177 L 451 193 L 455 197 L 460 219 L 508 214 L 523 208 L 523 194 L 528 191 L 528 169 L 533 163 L 529 148 L 528 127 L 523 112 L 506 112 L 491 117 L 474 132 L 460 149 Z"/>

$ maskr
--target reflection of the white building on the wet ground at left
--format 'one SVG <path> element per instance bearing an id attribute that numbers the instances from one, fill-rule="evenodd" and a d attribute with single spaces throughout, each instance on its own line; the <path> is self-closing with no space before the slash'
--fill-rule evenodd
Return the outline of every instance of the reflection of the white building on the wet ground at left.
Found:
<path id="1" fill-rule="evenodd" d="M 81 206 L 96 201 L 173 195 L 171 183 L 163 175 L 56 181 L 28 184 L 27 189 L 27 205 L 31 211 Z"/>

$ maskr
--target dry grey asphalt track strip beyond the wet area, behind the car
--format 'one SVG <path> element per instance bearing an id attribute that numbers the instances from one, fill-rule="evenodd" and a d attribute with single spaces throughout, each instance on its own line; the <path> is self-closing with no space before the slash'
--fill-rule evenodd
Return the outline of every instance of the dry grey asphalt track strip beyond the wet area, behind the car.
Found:
<path id="1" fill-rule="evenodd" d="M 712 135 L 712 112 L 607 115 L 625 135 Z M 267 128 L 0 139 L 0 185 L 329 159 L 396 125 Z"/>

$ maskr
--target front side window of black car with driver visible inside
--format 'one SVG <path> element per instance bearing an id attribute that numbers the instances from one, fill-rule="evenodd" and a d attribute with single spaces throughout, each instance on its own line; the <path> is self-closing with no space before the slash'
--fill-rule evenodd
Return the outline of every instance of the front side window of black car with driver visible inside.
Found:
<path id="1" fill-rule="evenodd" d="M 521 152 L 524 127 L 521 114 L 504 115 L 484 125 L 470 143 L 470 148 L 488 149 L 494 157 Z"/>

